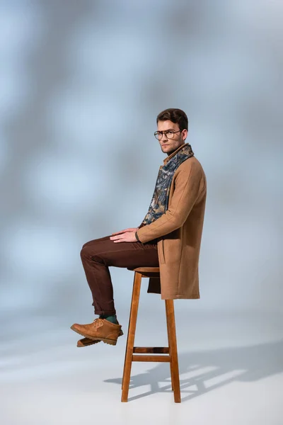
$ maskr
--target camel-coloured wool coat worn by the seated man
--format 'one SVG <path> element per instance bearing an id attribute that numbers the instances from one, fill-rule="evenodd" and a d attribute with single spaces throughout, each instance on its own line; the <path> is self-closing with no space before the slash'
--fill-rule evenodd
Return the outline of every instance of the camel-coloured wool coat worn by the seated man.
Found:
<path id="1" fill-rule="evenodd" d="M 183 147 L 164 159 L 164 165 Z M 149 278 L 148 293 L 159 293 L 162 300 L 200 298 L 198 265 L 206 197 L 204 170 L 195 156 L 190 157 L 173 174 L 168 210 L 137 230 L 143 243 L 158 238 L 160 279 Z"/>

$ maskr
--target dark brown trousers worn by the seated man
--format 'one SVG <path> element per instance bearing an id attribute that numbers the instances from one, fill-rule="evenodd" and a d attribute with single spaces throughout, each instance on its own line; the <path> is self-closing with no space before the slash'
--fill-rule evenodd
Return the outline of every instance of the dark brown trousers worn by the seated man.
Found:
<path id="1" fill-rule="evenodd" d="M 81 261 L 93 295 L 95 314 L 116 314 L 109 266 L 158 267 L 157 239 L 141 242 L 113 242 L 110 236 L 86 242 Z"/>

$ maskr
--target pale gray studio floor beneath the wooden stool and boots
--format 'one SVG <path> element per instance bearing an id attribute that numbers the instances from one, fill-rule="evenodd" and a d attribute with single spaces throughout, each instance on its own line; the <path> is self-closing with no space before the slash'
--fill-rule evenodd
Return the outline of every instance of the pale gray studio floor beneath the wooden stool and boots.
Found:
<path id="1" fill-rule="evenodd" d="M 76 348 L 71 322 L 58 329 L 48 318 L 21 338 L 23 320 L 18 337 L 1 344 L 1 424 L 282 425 L 282 316 L 175 316 L 181 404 L 173 402 L 168 363 L 133 363 L 129 401 L 120 401 L 127 312 L 118 317 L 125 334 L 117 346 Z M 166 345 L 161 314 L 139 315 L 135 345 Z"/>

